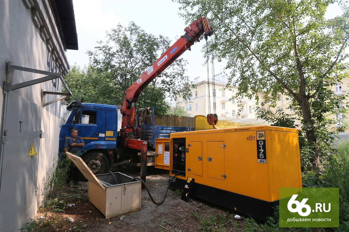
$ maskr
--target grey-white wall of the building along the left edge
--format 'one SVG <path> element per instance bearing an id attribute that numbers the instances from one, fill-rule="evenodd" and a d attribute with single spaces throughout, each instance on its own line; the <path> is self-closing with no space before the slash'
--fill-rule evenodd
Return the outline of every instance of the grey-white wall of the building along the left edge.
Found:
<path id="1" fill-rule="evenodd" d="M 3 91 L 6 64 L 63 74 L 69 65 L 47 0 L 2 0 L 0 22 L 0 130 L 8 135 L 0 143 L 0 231 L 7 232 L 33 218 L 43 200 L 43 179 L 58 156 L 60 101 L 42 107 L 42 90 L 59 92 L 62 83 Z M 16 70 L 13 85 L 44 76 Z M 47 95 L 46 102 L 58 97 Z M 37 155 L 28 157 L 31 143 Z"/>

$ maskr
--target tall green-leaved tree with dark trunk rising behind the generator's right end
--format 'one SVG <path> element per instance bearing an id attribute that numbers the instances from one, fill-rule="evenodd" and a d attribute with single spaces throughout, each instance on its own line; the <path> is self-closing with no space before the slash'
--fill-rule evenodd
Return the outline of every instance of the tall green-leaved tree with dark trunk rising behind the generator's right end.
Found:
<path id="1" fill-rule="evenodd" d="M 335 124 L 328 116 L 347 112 L 347 96 L 336 95 L 331 87 L 348 73 L 348 3 L 177 1 L 188 22 L 198 16 L 210 19 L 215 38 L 208 50 L 218 61 L 227 59 L 227 86 L 238 86 L 234 97 L 255 97 L 260 104 L 268 100 L 272 107 L 280 93 L 292 100 L 287 108 L 291 107 L 294 115 L 288 117 L 302 122 L 303 145 L 311 165 L 318 166 L 320 153 L 329 147 L 326 126 Z M 342 14 L 325 18 L 330 5 L 338 5 Z M 259 99 L 259 92 L 268 99 Z M 260 117 L 266 115 L 260 107 L 258 112 Z"/>

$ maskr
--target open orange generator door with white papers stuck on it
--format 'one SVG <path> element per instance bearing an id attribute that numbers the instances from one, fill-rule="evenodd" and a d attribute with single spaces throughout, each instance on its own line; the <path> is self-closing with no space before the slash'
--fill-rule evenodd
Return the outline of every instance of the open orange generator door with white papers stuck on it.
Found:
<path id="1" fill-rule="evenodd" d="M 170 170 L 170 138 L 156 139 L 155 167 Z"/>

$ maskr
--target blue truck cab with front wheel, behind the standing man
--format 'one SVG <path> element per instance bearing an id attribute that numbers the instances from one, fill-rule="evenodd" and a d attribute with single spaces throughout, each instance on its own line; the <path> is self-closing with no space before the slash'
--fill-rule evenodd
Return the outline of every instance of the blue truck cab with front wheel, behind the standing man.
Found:
<path id="1" fill-rule="evenodd" d="M 117 147 L 118 108 L 116 105 L 81 103 L 68 104 L 70 111 L 65 123 L 61 125 L 59 151 L 64 151 L 66 138 L 71 130 L 77 129 L 84 140 L 82 159 L 94 174 L 106 173 L 113 163 Z"/>

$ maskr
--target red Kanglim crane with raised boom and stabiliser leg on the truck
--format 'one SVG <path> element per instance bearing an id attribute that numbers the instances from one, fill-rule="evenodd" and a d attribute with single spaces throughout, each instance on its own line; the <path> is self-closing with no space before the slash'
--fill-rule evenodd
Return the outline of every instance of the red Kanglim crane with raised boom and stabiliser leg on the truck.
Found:
<path id="1" fill-rule="evenodd" d="M 134 104 L 137 102 L 142 90 L 156 77 L 159 77 L 170 64 L 172 64 L 180 55 L 190 47 L 195 41 L 200 41 L 201 35 L 208 36 L 214 33 L 207 18 L 200 17 L 193 21 L 189 27 L 184 29 L 185 34 L 182 35 L 164 54 L 152 64 L 147 71 L 145 71 L 134 83 L 125 91 L 124 102 L 121 106 L 120 112 L 122 114 L 121 129 L 119 138 L 122 139 L 122 146 L 141 150 L 141 172 L 140 176 L 143 181 L 146 180 L 147 170 L 147 141 L 133 139 L 132 134 L 134 129 Z"/>

